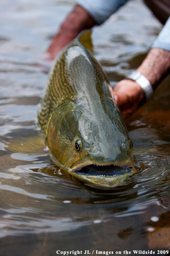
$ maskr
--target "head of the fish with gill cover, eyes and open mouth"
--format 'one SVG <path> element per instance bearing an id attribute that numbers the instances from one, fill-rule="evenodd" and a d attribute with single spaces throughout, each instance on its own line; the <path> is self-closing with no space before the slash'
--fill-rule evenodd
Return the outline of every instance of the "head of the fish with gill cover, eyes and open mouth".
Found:
<path id="1" fill-rule="evenodd" d="M 94 119 L 79 104 L 66 102 L 55 110 L 48 129 L 47 145 L 53 161 L 99 189 L 117 187 L 137 172 L 133 144 L 120 111 L 111 113 Z"/>

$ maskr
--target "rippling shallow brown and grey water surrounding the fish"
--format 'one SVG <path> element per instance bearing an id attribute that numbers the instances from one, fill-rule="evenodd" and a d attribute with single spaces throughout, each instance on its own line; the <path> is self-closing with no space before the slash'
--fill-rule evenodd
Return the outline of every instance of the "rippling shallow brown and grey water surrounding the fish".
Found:
<path id="1" fill-rule="evenodd" d="M 72 3 L 0 0 L 0 141 L 36 136 L 47 74 L 36 65 Z M 132 0 L 94 28 L 112 86 L 137 68 L 161 25 Z M 0 255 L 170 250 L 170 77 L 126 120 L 141 172 L 115 190 L 61 175 L 48 155 L 0 147 Z"/>

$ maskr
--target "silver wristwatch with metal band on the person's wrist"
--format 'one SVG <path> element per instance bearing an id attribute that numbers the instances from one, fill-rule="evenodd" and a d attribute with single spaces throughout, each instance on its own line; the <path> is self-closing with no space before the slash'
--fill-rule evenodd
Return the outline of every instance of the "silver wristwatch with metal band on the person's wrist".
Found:
<path id="1" fill-rule="evenodd" d="M 130 75 L 128 75 L 127 78 L 136 81 L 137 84 L 139 84 L 140 87 L 142 87 L 146 97 L 146 101 L 152 98 L 153 96 L 152 84 L 144 75 L 141 75 L 140 72 L 134 71 Z"/>

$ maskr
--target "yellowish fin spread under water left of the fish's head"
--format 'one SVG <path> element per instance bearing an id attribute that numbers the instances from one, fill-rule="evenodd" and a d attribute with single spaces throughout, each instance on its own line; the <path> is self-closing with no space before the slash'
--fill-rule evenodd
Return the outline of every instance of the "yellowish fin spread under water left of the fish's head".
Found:
<path id="1" fill-rule="evenodd" d="M 20 139 L 9 140 L 8 143 L 3 143 L 4 148 L 23 154 L 30 155 L 46 155 L 46 145 L 40 137 L 25 137 Z"/>

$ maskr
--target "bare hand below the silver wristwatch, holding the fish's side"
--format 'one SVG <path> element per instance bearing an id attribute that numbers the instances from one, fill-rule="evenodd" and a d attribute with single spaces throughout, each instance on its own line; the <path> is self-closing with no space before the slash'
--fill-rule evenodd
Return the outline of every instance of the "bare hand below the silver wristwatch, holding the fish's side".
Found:
<path id="1" fill-rule="evenodd" d="M 118 82 L 112 93 L 123 118 L 130 116 L 145 100 L 143 89 L 131 79 Z"/>

